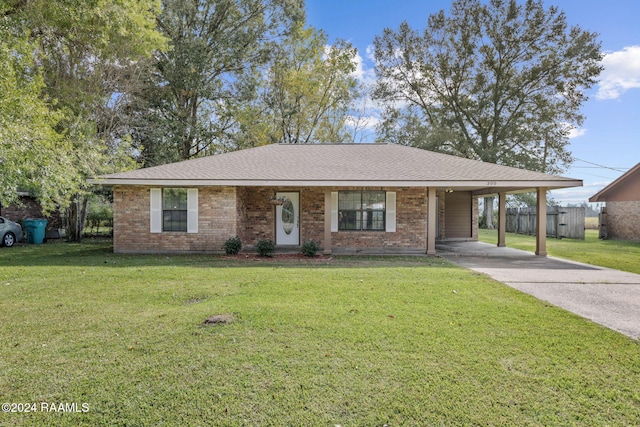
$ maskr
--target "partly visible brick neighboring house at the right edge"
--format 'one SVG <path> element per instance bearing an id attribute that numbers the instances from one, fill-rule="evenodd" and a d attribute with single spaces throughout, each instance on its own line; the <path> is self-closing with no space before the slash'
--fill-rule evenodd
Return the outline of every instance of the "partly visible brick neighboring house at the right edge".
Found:
<path id="1" fill-rule="evenodd" d="M 589 201 L 606 202 L 600 215 L 600 237 L 640 240 L 640 163 Z"/>

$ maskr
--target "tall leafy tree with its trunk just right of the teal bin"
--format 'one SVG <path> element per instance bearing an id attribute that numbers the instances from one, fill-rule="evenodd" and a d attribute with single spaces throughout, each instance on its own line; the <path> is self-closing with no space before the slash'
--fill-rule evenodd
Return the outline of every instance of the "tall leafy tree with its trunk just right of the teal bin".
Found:
<path id="1" fill-rule="evenodd" d="M 86 178 L 129 165 L 126 140 L 109 139 L 105 113 L 121 93 L 129 65 L 164 46 L 154 29 L 157 6 L 156 0 L 13 0 L 0 10 L 12 29 L 11 39 L 28 36 L 25 55 L 35 60 L 23 70 L 31 90 L 38 91 L 31 95 L 43 113 L 37 122 L 42 125 L 40 141 L 57 148 L 42 153 L 38 144 L 25 147 L 50 168 L 39 170 L 40 182 L 18 181 L 33 184 L 44 207 L 67 208 L 71 240 L 82 235 Z M 24 61 L 17 51 L 9 56 Z M 23 132 L 18 130 L 14 137 Z M 6 166 L 14 175 L 24 176 L 28 170 L 19 164 Z M 48 173 L 52 168 L 55 172 Z"/>

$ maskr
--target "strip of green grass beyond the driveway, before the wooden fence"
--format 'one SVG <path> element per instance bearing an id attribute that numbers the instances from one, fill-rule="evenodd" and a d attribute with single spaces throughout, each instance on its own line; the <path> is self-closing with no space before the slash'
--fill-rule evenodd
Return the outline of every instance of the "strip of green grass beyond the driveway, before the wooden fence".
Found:
<path id="1" fill-rule="evenodd" d="M 497 230 L 481 229 L 478 238 L 495 244 L 497 233 Z M 506 244 L 529 252 L 536 250 L 535 236 L 507 233 Z M 548 238 L 547 252 L 558 258 L 640 274 L 640 242 L 600 240 L 598 230 L 585 230 L 584 240 Z"/>

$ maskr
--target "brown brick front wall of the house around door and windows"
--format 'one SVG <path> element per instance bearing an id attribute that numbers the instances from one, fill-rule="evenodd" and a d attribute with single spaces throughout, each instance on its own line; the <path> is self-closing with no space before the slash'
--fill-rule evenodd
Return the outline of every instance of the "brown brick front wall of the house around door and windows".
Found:
<path id="1" fill-rule="evenodd" d="M 224 242 L 238 235 L 251 249 L 260 239 L 275 240 L 275 206 L 269 197 L 276 192 L 300 194 L 300 243 L 313 239 L 324 248 L 325 191 L 361 188 L 319 187 L 200 187 L 198 233 L 150 232 L 150 190 L 147 186 L 115 186 L 114 252 L 222 252 Z M 331 233 L 334 248 L 420 248 L 427 246 L 427 190 L 379 187 L 396 192 L 396 232 L 339 231 Z M 444 198 L 440 199 L 441 201 Z M 474 198 L 477 239 L 477 198 Z M 444 233 L 444 205 L 438 207 L 440 236 Z"/>

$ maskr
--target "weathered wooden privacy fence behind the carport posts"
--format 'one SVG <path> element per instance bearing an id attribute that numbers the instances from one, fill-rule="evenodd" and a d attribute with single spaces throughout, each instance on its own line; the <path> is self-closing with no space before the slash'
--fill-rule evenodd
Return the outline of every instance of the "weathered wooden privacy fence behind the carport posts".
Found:
<path id="1" fill-rule="evenodd" d="M 536 234 L 536 208 L 507 209 L 507 232 Z M 584 240 L 584 207 L 547 206 L 547 236 Z"/>

